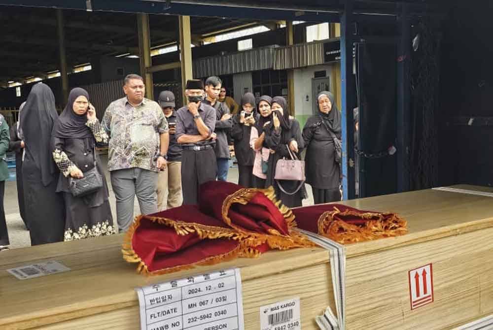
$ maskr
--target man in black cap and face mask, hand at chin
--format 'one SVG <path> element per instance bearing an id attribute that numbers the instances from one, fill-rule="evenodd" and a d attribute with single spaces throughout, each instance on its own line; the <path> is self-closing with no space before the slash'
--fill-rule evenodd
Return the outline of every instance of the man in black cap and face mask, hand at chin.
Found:
<path id="1" fill-rule="evenodd" d="M 176 111 L 176 141 L 182 146 L 181 187 L 183 204 L 197 204 L 199 186 L 216 178 L 214 133 L 216 111 L 203 102 L 204 84 L 188 80 L 188 104 Z"/>

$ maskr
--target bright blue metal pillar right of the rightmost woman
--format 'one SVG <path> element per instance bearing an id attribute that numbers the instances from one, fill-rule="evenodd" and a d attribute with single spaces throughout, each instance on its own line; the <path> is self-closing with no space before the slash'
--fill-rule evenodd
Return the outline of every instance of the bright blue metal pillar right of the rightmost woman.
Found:
<path id="1" fill-rule="evenodd" d="M 346 0 L 341 17 L 341 126 L 343 198 L 354 198 L 354 125 L 352 104 L 355 99 L 352 74 L 353 0 Z"/>

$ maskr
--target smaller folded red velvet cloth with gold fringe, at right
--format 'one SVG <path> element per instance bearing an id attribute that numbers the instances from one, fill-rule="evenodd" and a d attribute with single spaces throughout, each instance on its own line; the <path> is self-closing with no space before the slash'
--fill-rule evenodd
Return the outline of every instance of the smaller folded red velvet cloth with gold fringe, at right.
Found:
<path id="1" fill-rule="evenodd" d="M 400 236 L 407 222 L 395 213 L 358 210 L 342 204 L 319 204 L 292 209 L 300 229 L 341 244 Z"/>

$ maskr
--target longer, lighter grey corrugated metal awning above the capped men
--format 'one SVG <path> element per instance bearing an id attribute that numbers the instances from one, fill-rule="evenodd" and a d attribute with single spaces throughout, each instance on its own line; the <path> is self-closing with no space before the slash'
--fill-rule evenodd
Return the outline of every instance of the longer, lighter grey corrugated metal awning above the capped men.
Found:
<path id="1" fill-rule="evenodd" d="M 193 61 L 193 75 L 232 74 L 247 71 L 271 69 L 277 46 L 244 50 L 225 56 L 211 56 Z"/>

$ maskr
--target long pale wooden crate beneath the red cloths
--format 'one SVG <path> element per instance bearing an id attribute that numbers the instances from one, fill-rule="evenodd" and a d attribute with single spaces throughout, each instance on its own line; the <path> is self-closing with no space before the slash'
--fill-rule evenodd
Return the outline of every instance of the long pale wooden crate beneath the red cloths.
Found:
<path id="1" fill-rule="evenodd" d="M 397 212 L 409 226 L 401 237 L 346 246 L 346 329 L 452 329 L 493 314 L 493 197 L 425 190 L 345 203 Z M 121 242 L 115 235 L 0 253 L 0 329 L 139 329 L 134 288 L 232 267 L 241 268 L 248 330 L 260 329 L 260 306 L 292 297 L 301 299 L 304 330 L 317 329 L 315 317 L 327 306 L 335 312 L 323 249 L 144 277 L 123 261 Z M 28 280 L 5 271 L 45 260 L 71 270 Z M 409 271 L 427 264 L 433 301 L 411 309 Z"/>

